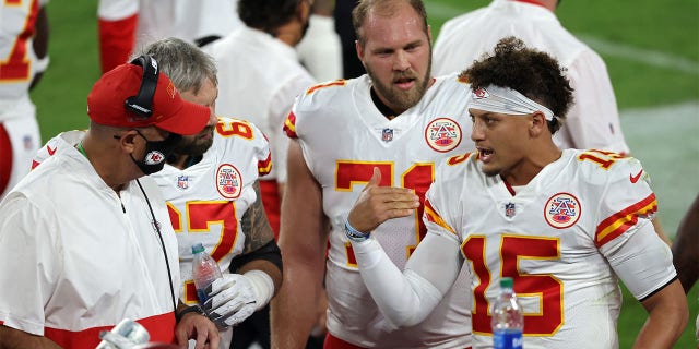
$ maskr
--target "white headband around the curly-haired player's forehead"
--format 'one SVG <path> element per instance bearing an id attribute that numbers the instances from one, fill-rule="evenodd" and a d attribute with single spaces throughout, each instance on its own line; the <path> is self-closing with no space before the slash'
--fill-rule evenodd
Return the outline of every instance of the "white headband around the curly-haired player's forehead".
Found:
<path id="1" fill-rule="evenodd" d="M 550 109 L 529 99 L 510 87 L 495 85 L 471 92 L 471 101 L 467 108 L 517 116 L 541 111 L 546 117 L 546 120 L 554 120 L 554 112 Z"/>

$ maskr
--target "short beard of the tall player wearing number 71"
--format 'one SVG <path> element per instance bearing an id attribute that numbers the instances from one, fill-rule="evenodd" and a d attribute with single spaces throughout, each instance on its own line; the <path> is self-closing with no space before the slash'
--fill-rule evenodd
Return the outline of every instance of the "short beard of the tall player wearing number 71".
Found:
<path id="1" fill-rule="evenodd" d="M 429 62 L 427 64 L 427 71 L 425 71 L 425 75 L 419 79 L 415 76 L 413 70 L 410 70 L 404 73 L 393 74 L 391 76 L 391 81 L 389 85 L 383 84 L 380 80 L 376 77 L 374 70 L 371 67 L 366 64 L 367 74 L 371 77 L 371 84 L 374 88 L 376 88 L 377 93 L 383 98 L 388 99 L 388 101 L 395 108 L 395 111 L 403 111 L 415 106 L 425 95 L 425 91 L 427 91 L 427 86 L 429 84 L 429 77 L 431 73 L 433 59 L 429 57 Z M 395 88 L 393 86 L 393 81 L 396 79 L 415 79 L 415 86 L 410 91 L 402 91 Z"/>

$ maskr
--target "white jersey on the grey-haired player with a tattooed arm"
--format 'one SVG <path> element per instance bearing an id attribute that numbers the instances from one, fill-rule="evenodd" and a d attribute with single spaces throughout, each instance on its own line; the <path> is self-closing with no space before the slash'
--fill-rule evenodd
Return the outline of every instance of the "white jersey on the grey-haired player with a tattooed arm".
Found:
<path id="1" fill-rule="evenodd" d="M 258 128 L 238 119 L 218 118 L 214 142 L 201 161 L 179 169 L 170 165 L 153 178 L 167 201 L 170 221 L 179 243 L 182 297 L 197 303 L 192 281 L 192 249 L 198 242 L 224 274 L 230 261 L 242 253 L 242 215 L 257 200 L 253 184 L 269 173 L 268 142 Z"/>

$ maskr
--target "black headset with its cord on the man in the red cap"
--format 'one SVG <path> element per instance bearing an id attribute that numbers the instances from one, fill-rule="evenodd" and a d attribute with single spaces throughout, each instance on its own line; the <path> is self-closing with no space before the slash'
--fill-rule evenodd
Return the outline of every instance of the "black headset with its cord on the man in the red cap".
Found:
<path id="1" fill-rule="evenodd" d="M 127 110 L 142 117 L 143 119 L 151 118 L 153 116 L 153 97 L 155 96 L 155 87 L 157 86 L 157 79 L 161 74 L 157 61 L 149 55 L 142 55 L 134 58 L 131 61 L 131 64 L 141 65 L 143 68 L 143 77 L 141 79 L 141 87 L 139 87 L 139 94 L 135 96 L 131 96 L 125 100 L 123 106 Z M 141 189 L 141 193 L 143 193 L 143 197 L 145 197 L 145 203 L 149 205 L 149 210 L 151 212 L 151 217 L 153 221 L 151 224 L 155 228 L 157 232 L 157 237 L 161 241 L 161 248 L 163 249 L 163 256 L 165 257 L 165 266 L 167 267 L 167 279 L 170 282 L 170 296 L 173 297 L 173 308 L 175 314 L 177 314 L 177 301 L 175 301 L 175 287 L 173 285 L 173 275 L 170 272 L 170 263 L 167 258 L 167 251 L 165 250 L 165 243 L 163 242 L 163 234 L 161 233 L 161 224 L 155 219 L 155 214 L 153 213 L 153 207 L 151 206 L 151 201 L 149 196 L 145 194 L 145 190 L 141 185 L 141 182 L 137 179 L 137 183 Z"/>

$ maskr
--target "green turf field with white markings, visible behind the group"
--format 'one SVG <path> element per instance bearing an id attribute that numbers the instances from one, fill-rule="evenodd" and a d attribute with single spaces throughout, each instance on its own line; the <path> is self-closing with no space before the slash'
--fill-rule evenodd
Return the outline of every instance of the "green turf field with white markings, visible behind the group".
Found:
<path id="1" fill-rule="evenodd" d="M 96 2 L 49 2 L 51 64 L 32 93 L 44 141 L 87 127 L 85 100 L 99 75 Z M 446 20 L 489 0 L 426 3 L 437 37 Z M 699 193 L 699 1 L 565 0 L 558 16 L 607 63 L 627 142 L 651 173 L 661 221 L 674 236 Z M 698 289 L 689 294 L 689 325 L 676 348 L 697 348 Z M 631 347 L 644 317 L 642 306 L 626 293 L 620 348 Z"/>

